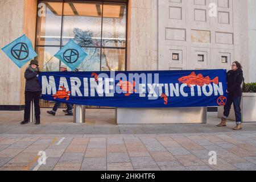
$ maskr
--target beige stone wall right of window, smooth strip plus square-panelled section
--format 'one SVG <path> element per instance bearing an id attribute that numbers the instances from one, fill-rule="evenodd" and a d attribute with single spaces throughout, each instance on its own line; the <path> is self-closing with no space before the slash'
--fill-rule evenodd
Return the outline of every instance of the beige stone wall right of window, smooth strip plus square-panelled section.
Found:
<path id="1" fill-rule="evenodd" d="M 208 15 L 210 3 L 217 5 L 216 17 Z M 130 0 L 127 68 L 230 69 L 238 60 L 249 80 L 247 11 L 247 0 Z"/>

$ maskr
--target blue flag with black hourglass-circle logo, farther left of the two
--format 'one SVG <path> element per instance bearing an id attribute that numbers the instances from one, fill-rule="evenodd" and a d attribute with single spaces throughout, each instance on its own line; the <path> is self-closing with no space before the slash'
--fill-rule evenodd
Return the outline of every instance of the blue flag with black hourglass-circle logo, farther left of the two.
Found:
<path id="1" fill-rule="evenodd" d="M 26 35 L 20 36 L 3 47 L 2 50 L 19 68 L 37 56 L 30 39 Z"/>

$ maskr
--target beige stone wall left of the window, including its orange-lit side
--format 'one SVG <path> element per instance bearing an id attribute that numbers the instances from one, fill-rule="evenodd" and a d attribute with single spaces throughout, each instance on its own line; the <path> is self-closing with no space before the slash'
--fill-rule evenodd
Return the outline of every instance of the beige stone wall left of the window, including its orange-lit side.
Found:
<path id="1" fill-rule="evenodd" d="M 36 0 L 0 0 L 0 47 L 24 33 L 35 40 Z M 24 68 L 0 51 L 0 105 L 24 104 Z M 26 66 L 24 66 L 26 67 Z"/>

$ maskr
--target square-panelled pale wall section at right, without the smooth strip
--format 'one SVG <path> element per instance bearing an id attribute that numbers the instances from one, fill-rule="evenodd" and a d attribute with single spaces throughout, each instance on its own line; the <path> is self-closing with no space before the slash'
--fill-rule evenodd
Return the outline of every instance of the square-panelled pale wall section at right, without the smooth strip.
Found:
<path id="1" fill-rule="evenodd" d="M 210 3 L 217 16 L 209 16 Z M 160 0 L 158 12 L 160 70 L 230 69 L 237 60 L 248 80 L 247 0 Z M 172 59 L 173 53 L 179 53 L 179 60 Z M 222 63 L 222 56 L 228 63 Z"/>

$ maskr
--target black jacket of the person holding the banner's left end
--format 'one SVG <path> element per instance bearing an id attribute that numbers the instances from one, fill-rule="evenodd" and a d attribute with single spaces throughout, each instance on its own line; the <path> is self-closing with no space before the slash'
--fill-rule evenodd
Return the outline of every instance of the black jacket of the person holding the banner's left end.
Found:
<path id="1" fill-rule="evenodd" d="M 30 69 L 26 69 L 25 78 L 26 78 L 26 86 L 25 92 L 40 92 L 41 87 L 38 80 L 38 72 L 32 72 Z"/>

